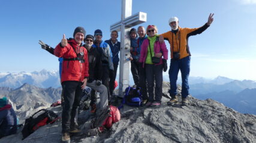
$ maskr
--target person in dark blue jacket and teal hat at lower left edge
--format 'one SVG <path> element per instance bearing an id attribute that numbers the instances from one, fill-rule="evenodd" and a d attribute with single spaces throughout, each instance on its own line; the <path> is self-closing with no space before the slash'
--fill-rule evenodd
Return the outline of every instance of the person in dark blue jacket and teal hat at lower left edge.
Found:
<path id="1" fill-rule="evenodd" d="M 0 138 L 17 132 L 17 117 L 7 98 L 0 99 Z"/>

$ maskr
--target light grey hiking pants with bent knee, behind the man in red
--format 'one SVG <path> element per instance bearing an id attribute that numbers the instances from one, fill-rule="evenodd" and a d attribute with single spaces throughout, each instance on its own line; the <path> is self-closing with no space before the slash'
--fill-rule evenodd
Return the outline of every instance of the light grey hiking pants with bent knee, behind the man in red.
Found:
<path id="1" fill-rule="evenodd" d="M 103 84 L 101 84 L 100 86 L 96 85 L 96 80 L 94 80 L 93 82 L 88 82 L 86 84 L 86 86 L 88 86 L 91 89 L 94 89 L 97 92 L 100 92 L 100 108 L 103 109 L 103 108 L 107 107 L 108 100 L 107 100 L 106 86 L 104 86 Z M 97 95 L 94 94 L 94 96 L 97 96 Z M 97 99 L 97 97 L 96 97 L 96 99 Z M 95 104 L 95 102 L 94 102 L 94 104 Z"/>

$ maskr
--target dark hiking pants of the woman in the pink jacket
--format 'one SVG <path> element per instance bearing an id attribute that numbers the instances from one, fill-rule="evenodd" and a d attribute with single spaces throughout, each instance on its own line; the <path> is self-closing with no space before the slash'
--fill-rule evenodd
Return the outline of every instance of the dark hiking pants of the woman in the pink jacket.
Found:
<path id="1" fill-rule="evenodd" d="M 162 99 L 162 64 L 145 64 L 146 79 L 147 79 L 147 91 L 149 92 L 149 101 L 160 102 Z M 155 100 L 154 100 L 154 82 L 155 82 Z"/>

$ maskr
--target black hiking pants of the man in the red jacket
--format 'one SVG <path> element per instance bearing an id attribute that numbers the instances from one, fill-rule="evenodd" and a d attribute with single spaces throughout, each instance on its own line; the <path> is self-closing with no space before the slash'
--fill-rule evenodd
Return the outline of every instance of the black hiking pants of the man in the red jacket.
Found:
<path id="1" fill-rule="evenodd" d="M 62 133 L 69 132 L 70 125 L 74 125 L 77 116 L 77 107 L 82 97 L 82 82 L 65 81 L 62 82 L 64 105 L 62 109 Z"/>

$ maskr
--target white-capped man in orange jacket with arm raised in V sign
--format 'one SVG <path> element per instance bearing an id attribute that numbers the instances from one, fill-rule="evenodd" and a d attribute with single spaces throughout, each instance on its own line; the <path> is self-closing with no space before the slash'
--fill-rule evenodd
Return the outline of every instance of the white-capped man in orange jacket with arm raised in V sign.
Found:
<path id="1" fill-rule="evenodd" d="M 177 75 L 179 70 L 182 76 L 182 105 L 188 104 L 187 97 L 189 95 L 188 76 L 190 71 L 190 52 L 188 47 L 188 38 L 192 35 L 197 35 L 206 30 L 213 21 L 213 15 L 210 14 L 208 21 L 204 26 L 199 28 L 181 28 L 179 27 L 179 19 L 171 17 L 168 24 L 171 30 L 159 36 L 159 41 L 163 42 L 164 39 L 170 43 L 171 64 L 169 69 L 170 79 L 170 97 L 171 100 L 167 102 L 168 105 L 173 105 L 178 102 L 177 100 Z"/>

